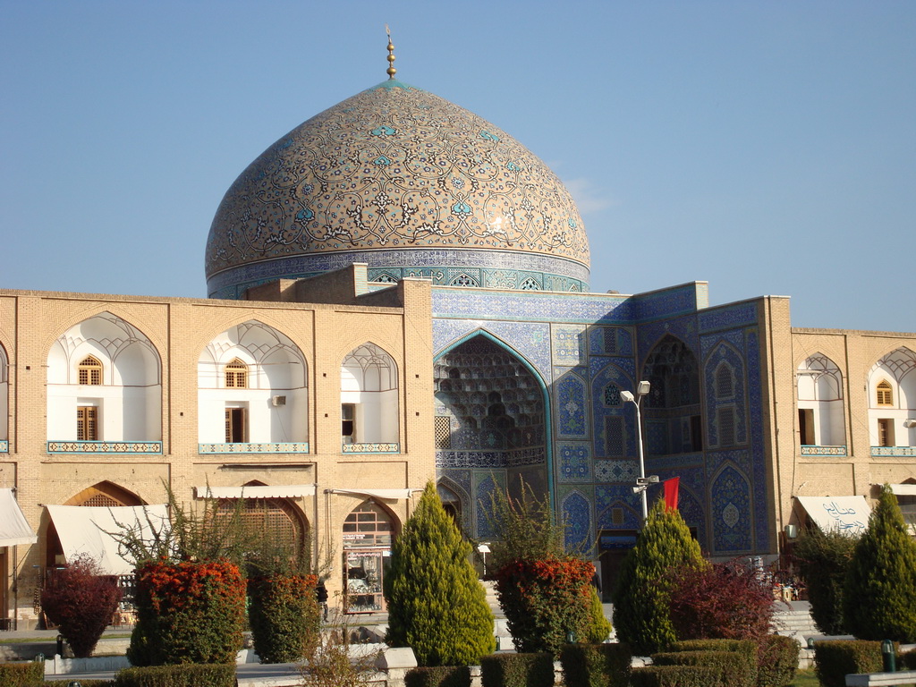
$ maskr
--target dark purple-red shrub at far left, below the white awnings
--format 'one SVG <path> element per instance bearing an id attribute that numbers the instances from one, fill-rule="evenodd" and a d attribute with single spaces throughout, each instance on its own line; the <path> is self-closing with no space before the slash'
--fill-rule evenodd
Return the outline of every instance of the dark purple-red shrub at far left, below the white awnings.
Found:
<path id="1" fill-rule="evenodd" d="M 93 653 L 120 600 L 117 578 L 100 574 L 98 564 L 86 556 L 55 571 L 41 592 L 45 615 L 60 627 L 78 659 Z"/>

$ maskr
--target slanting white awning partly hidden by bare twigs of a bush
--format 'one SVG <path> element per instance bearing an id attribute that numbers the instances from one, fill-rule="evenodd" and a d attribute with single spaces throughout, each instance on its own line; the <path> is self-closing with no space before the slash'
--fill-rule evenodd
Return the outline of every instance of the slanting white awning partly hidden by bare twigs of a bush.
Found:
<path id="1" fill-rule="evenodd" d="M 48 506 L 57 529 L 60 546 L 67 561 L 83 554 L 91 557 L 108 575 L 129 575 L 134 563 L 127 561 L 123 550 L 108 532 L 138 529 L 142 538 L 151 537 L 150 522 L 157 530 L 169 528 L 169 507 L 161 506 Z"/>

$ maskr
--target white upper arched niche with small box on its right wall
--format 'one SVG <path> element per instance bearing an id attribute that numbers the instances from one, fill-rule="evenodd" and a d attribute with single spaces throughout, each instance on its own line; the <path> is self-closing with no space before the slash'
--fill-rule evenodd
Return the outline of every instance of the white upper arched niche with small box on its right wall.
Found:
<path id="1" fill-rule="evenodd" d="M 197 380 L 203 453 L 276 443 L 308 451 L 308 365 L 286 334 L 256 320 L 230 327 L 203 347 Z"/>

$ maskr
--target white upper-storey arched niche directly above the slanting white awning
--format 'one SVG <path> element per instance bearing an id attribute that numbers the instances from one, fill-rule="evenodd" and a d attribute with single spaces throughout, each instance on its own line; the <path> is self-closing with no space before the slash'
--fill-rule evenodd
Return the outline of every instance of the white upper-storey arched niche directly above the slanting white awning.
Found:
<path id="1" fill-rule="evenodd" d="M 85 374 L 90 363 L 101 366 L 97 376 Z M 161 440 L 158 352 L 117 315 L 102 312 L 62 333 L 49 350 L 47 379 L 49 442 Z"/>

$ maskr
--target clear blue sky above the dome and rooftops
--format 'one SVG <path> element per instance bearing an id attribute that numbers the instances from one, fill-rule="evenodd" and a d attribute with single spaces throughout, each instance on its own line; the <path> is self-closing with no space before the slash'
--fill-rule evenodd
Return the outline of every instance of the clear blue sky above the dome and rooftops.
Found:
<path id="1" fill-rule="evenodd" d="M 205 295 L 245 166 L 386 78 L 566 182 L 592 289 L 916 331 L 916 2 L 0 0 L 0 287 Z"/>

